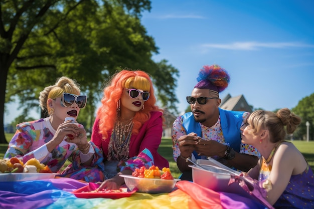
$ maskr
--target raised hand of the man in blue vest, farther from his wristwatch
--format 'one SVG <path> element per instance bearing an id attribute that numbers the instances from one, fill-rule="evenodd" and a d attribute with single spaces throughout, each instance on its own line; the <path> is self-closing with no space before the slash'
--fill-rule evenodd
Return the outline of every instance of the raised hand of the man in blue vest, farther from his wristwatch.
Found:
<path id="1" fill-rule="evenodd" d="M 195 145 L 199 143 L 199 139 L 200 137 L 198 137 L 196 133 L 181 136 L 178 139 L 181 156 L 184 158 L 190 157 L 195 149 Z"/>

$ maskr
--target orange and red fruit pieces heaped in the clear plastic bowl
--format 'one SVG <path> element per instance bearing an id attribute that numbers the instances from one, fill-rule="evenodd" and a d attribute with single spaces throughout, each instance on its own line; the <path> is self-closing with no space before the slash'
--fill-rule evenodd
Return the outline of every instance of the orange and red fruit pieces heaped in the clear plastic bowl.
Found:
<path id="1" fill-rule="evenodd" d="M 135 171 L 132 172 L 132 176 L 142 178 L 174 179 L 170 168 L 164 167 L 162 170 L 160 170 L 159 167 L 155 165 L 150 166 L 148 169 L 146 169 L 144 166 L 135 168 Z"/>

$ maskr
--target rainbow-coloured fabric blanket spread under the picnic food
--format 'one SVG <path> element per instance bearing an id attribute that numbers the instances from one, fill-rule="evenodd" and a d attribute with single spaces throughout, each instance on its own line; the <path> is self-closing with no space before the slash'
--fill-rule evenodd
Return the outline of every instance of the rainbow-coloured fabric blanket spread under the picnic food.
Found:
<path id="1" fill-rule="evenodd" d="M 135 192 L 129 197 L 78 198 L 71 191 L 88 185 L 71 178 L 0 182 L 0 208 L 267 208 L 235 193 L 216 192 L 191 181 L 179 181 L 170 193 Z"/>

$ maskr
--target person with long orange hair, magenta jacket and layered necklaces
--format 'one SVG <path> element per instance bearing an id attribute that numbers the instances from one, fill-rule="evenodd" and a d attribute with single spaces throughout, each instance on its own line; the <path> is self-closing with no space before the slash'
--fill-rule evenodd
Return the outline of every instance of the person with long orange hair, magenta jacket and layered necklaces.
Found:
<path id="1" fill-rule="evenodd" d="M 131 174 L 143 165 L 169 167 L 157 151 L 165 119 L 155 105 L 149 75 L 122 70 L 113 75 L 103 93 L 91 136 L 104 155 L 105 181 L 99 189 L 118 189 L 124 184 L 120 174 Z M 144 157 L 143 152 L 147 153 Z"/>

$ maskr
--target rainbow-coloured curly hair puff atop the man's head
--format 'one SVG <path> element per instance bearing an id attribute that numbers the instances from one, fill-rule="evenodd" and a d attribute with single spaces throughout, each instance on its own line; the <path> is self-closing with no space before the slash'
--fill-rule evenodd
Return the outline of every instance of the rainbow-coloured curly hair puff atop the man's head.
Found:
<path id="1" fill-rule="evenodd" d="M 197 81 L 194 88 L 209 89 L 220 93 L 228 87 L 230 76 L 218 65 L 205 65 L 200 70 Z"/>

